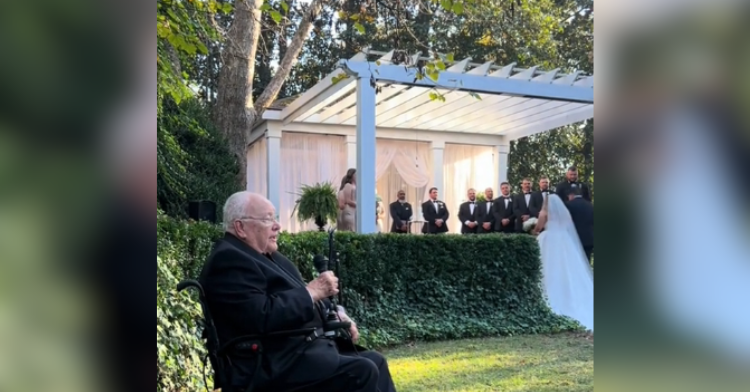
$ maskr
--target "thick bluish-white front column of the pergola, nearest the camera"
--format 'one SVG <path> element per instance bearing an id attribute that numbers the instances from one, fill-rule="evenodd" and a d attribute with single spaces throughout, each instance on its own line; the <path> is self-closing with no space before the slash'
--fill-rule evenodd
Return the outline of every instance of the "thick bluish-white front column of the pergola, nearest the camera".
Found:
<path id="1" fill-rule="evenodd" d="M 375 88 L 370 74 L 357 78 L 357 232 L 376 233 L 375 216 Z M 347 150 L 350 151 L 350 150 Z M 351 160 L 351 157 L 349 158 Z"/>

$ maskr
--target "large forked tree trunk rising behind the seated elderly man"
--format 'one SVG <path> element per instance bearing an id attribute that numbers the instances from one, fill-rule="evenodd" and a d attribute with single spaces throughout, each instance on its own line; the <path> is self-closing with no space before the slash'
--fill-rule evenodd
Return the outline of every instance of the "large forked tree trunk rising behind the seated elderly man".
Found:
<path id="1" fill-rule="evenodd" d="M 247 188 L 247 136 L 256 121 L 271 105 L 281 86 L 297 63 L 302 46 L 310 36 L 312 22 L 320 14 L 324 1 L 313 0 L 300 22 L 297 32 L 289 43 L 284 58 L 279 62 L 276 74 L 253 104 L 253 78 L 255 77 L 255 55 L 261 32 L 263 0 L 237 0 L 234 21 L 227 32 L 223 67 L 219 74 L 214 121 L 224 133 L 230 151 L 239 165 L 238 184 Z"/>

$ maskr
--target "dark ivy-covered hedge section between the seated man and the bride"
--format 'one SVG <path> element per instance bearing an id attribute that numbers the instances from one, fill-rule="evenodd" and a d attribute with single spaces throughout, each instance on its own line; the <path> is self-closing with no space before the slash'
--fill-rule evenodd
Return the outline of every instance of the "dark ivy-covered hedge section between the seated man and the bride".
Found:
<path id="1" fill-rule="evenodd" d="M 283 235 L 280 251 L 313 278 L 326 236 Z M 539 248 L 527 235 L 336 234 L 344 306 L 366 345 L 571 330 L 542 294 Z"/>

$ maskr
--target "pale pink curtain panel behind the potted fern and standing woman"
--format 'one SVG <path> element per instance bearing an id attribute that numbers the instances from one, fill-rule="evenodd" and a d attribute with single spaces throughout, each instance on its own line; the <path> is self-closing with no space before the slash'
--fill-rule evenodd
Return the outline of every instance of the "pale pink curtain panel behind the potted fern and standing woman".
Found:
<path id="1" fill-rule="evenodd" d="M 291 233 L 316 230 L 313 221 L 291 216 L 302 185 L 331 182 L 338 190 L 346 175 L 344 136 L 284 132 L 281 137 L 281 229 Z"/>

